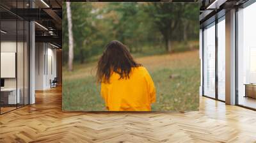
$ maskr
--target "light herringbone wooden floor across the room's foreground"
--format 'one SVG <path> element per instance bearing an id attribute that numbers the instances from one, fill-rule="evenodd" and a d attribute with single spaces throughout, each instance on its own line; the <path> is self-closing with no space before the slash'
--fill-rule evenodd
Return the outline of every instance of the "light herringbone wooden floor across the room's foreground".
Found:
<path id="1" fill-rule="evenodd" d="M 0 142 L 256 142 L 256 112 L 200 98 L 195 112 L 61 112 L 61 88 L 0 116 Z"/>

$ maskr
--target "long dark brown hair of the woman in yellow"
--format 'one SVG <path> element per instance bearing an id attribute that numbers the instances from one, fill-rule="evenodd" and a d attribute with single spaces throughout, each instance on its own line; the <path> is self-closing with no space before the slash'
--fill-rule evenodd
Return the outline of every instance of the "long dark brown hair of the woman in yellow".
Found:
<path id="1" fill-rule="evenodd" d="M 129 79 L 132 67 L 138 67 L 127 47 L 120 41 L 113 40 L 106 45 L 97 66 L 97 82 L 109 83 L 113 72 L 120 75 L 120 79 Z"/>

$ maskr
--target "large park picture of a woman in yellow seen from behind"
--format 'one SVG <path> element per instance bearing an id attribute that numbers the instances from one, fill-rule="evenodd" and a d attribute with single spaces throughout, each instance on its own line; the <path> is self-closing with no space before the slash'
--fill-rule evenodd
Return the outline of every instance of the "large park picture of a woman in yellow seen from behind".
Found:
<path id="1" fill-rule="evenodd" d="M 198 3 L 63 3 L 63 111 L 198 110 Z"/>

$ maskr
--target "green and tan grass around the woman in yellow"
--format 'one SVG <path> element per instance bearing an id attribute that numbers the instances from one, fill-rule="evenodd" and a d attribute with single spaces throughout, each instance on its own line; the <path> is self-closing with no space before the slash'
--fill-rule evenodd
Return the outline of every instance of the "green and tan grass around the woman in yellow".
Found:
<path id="1" fill-rule="evenodd" d="M 198 50 L 135 57 L 150 72 L 156 86 L 157 102 L 152 110 L 198 110 Z M 96 63 L 92 62 L 74 65 L 74 72 L 63 68 L 63 110 L 106 110 L 100 86 L 95 82 L 95 67 Z"/>

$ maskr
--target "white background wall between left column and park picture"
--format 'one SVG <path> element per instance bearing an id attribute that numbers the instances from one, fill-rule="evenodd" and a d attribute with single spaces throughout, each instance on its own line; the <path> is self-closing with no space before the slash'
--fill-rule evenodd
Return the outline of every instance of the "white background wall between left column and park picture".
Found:
<path id="1" fill-rule="evenodd" d="M 35 69 L 35 89 L 51 88 L 50 80 L 56 77 L 56 49 L 49 43 L 36 43 Z"/>

